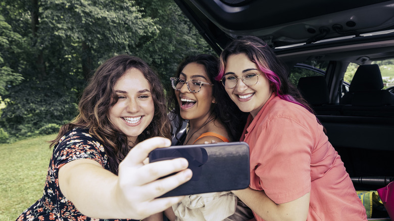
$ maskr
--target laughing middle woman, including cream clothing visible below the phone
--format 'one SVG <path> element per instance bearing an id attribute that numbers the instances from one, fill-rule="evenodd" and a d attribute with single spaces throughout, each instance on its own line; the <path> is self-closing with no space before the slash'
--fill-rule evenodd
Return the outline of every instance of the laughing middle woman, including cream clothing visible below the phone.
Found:
<path id="1" fill-rule="evenodd" d="M 186 136 L 180 145 L 229 142 L 239 140 L 245 115 L 231 102 L 220 82 L 218 58 L 200 54 L 188 56 L 179 65 L 176 77 L 171 78 L 173 93 L 169 108 L 177 134 L 185 121 Z M 229 191 L 186 196 L 166 210 L 170 220 L 249 220 L 249 208 Z M 235 214 L 234 214 L 235 213 Z M 152 217 L 151 217 L 152 218 Z M 160 220 L 160 214 L 156 219 Z"/>

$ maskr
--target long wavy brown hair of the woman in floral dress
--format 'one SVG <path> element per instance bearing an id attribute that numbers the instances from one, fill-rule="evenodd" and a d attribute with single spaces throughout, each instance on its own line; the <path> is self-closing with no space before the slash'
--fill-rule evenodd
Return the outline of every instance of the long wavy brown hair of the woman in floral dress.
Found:
<path id="1" fill-rule="evenodd" d="M 51 141 L 51 147 L 55 146 L 62 136 L 74 128 L 88 129 L 91 135 L 103 143 L 110 170 L 117 174 L 119 163 L 132 147 L 129 146 L 126 135 L 117 130 L 109 120 L 109 110 L 118 101 L 114 90 L 116 82 L 131 68 L 141 71 L 147 82 L 150 83 L 155 105 L 153 120 L 138 136 L 138 140 L 142 141 L 155 136 L 171 138 L 166 98 L 159 77 L 141 59 L 120 55 L 107 60 L 98 67 L 82 93 L 78 104 L 78 116 L 69 124 L 62 126 L 58 136 Z"/>

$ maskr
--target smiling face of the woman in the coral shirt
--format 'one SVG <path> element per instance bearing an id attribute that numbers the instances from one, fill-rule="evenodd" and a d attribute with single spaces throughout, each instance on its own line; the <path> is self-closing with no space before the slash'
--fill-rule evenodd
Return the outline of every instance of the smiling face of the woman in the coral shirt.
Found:
<path id="1" fill-rule="evenodd" d="M 242 112 L 249 112 L 256 117 L 271 96 L 270 81 L 244 53 L 230 55 L 226 63 L 224 75 L 239 77 L 237 85 L 225 88 L 226 92 Z M 242 76 L 250 73 L 260 74 L 257 84 L 252 86 L 245 85 L 241 80 Z"/>

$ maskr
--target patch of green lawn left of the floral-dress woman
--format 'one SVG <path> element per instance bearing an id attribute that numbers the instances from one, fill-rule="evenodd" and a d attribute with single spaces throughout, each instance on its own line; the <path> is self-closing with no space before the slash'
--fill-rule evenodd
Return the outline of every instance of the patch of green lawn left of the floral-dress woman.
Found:
<path id="1" fill-rule="evenodd" d="M 15 219 L 42 196 L 54 135 L 0 144 L 0 220 Z"/>

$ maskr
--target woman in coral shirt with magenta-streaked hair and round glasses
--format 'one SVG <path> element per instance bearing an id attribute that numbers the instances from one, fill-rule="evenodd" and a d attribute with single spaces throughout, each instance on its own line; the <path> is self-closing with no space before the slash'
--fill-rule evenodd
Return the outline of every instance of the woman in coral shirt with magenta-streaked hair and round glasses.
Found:
<path id="1" fill-rule="evenodd" d="M 233 193 L 257 220 L 367 220 L 323 126 L 264 41 L 231 42 L 216 79 L 250 114 L 240 140 L 250 146 L 251 183 Z"/>

